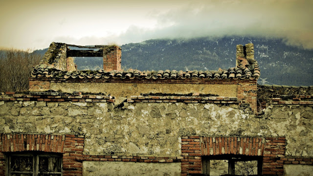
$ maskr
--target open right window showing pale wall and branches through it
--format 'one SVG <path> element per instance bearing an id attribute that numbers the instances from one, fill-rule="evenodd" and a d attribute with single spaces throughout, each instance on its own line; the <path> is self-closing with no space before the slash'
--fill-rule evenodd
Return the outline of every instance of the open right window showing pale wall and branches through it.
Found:
<path id="1" fill-rule="evenodd" d="M 202 174 L 221 175 L 261 175 L 262 156 L 223 154 L 202 157 Z"/>

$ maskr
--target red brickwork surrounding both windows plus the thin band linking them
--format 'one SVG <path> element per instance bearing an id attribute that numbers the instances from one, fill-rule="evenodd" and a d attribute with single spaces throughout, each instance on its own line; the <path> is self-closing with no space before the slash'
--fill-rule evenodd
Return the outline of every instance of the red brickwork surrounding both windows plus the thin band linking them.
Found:
<path id="1" fill-rule="evenodd" d="M 0 134 L 0 175 L 5 175 L 4 153 L 43 151 L 63 154 L 63 175 L 82 176 L 83 161 L 181 163 L 181 176 L 201 174 L 202 156 L 241 154 L 263 156 L 264 175 L 283 175 L 284 164 L 313 165 L 313 158 L 286 158 L 285 137 L 181 137 L 181 156 L 87 155 L 84 135 Z"/>

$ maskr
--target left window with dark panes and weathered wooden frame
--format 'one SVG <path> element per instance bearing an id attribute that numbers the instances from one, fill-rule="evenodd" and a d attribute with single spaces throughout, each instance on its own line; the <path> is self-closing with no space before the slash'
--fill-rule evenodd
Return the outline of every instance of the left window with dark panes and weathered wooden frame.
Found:
<path id="1" fill-rule="evenodd" d="M 62 154 L 8 154 L 7 173 L 8 176 L 62 176 Z"/>

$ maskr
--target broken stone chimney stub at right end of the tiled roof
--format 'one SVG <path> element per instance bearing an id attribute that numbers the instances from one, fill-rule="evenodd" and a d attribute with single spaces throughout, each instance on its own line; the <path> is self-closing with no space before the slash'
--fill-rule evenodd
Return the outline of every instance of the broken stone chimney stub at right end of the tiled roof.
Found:
<path id="1" fill-rule="evenodd" d="M 236 66 L 240 66 L 241 61 L 239 58 L 245 59 L 254 59 L 254 45 L 252 43 L 246 44 L 237 44 L 236 47 Z"/>

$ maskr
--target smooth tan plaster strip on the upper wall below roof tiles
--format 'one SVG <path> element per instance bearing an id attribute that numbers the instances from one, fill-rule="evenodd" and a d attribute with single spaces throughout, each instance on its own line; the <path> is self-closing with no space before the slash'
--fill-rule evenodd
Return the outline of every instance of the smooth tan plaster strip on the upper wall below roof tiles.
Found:
<path id="1" fill-rule="evenodd" d="M 106 92 L 115 97 L 130 97 L 140 93 L 178 93 L 199 92 L 224 97 L 237 97 L 235 84 L 157 84 L 157 83 L 50 83 L 50 89 L 69 92 Z"/>

